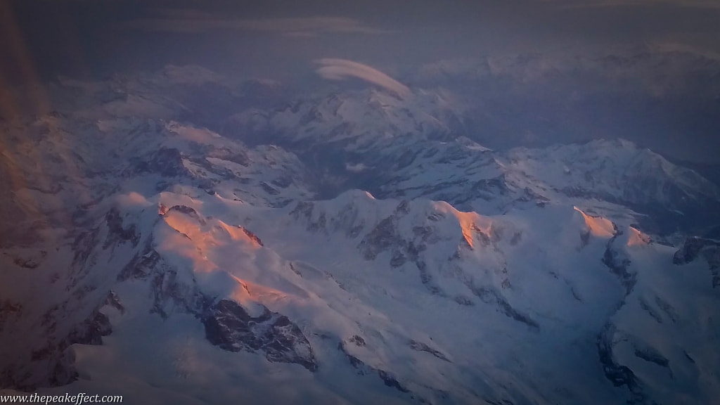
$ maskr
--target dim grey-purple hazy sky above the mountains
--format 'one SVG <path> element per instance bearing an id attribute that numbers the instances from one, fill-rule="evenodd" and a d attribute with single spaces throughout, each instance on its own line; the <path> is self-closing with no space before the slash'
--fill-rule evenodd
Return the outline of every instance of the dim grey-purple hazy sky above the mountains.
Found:
<path id="1" fill-rule="evenodd" d="M 647 45 L 715 57 L 718 22 L 719 0 L 0 0 L 0 80 L 96 78 L 172 63 L 314 86 L 318 73 L 343 76 L 322 61 L 346 60 L 398 79 L 392 86 L 402 92 L 408 72 L 444 59 L 570 58 Z M 696 110 L 702 117 L 693 110 L 667 123 L 683 121 L 657 148 L 720 163 L 706 147 L 720 150 L 720 135 L 711 135 L 720 134 L 720 107 Z M 698 120 L 685 134 L 690 142 L 672 135 Z"/>

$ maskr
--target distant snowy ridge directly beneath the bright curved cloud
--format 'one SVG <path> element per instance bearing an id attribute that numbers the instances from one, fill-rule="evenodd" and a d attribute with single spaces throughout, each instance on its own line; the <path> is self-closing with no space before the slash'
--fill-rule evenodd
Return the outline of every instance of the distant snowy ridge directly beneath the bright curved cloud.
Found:
<path id="1" fill-rule="evenodd" d="M 398 99 L 378 90 L 333 93 L 300 99 L 284 109 L 248 110 L 231 117 L 228 133 L 270 133 L 300 145 L 336 144 L 344 151 L 366 151 L 390 143 L 444 139 L 460 119 L 441 96 L 417 92 Z"/>

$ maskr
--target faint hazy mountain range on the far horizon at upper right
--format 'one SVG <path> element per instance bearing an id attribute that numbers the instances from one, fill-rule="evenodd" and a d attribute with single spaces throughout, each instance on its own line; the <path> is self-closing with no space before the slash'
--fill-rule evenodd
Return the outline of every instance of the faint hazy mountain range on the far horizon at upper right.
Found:
<path id="1" fill-rule="evenodd" d="M 712 98 L 720 90 L 716 80 L 719 67 L 717 53 L 656 43 L 602 52 L 515 53 L 435 61 L 409 74 L 408 81 L 452 89 L 510 85 L 510 89 L 528 90 L 575 85 L 576 97 L 633 90 L 658 97 L 697 92 L 698 97 Z"/>

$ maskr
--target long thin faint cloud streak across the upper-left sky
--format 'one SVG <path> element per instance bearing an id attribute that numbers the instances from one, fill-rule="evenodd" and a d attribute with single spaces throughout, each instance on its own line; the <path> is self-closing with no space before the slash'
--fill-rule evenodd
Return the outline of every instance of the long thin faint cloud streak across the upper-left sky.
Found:
<path id="1" fill-rule="evenodd" d="M 134 19 L 122 25 L 125 29 L 161 32 L 206 32 L 235 30 L 268 32 L 292 37 L 315 37 L 322 34 L 382 34 L 388 31 L 369 27 L 347 17 L 289 17 L 233 19 L 192 9 L 164 9 L 158 17 Z"/>

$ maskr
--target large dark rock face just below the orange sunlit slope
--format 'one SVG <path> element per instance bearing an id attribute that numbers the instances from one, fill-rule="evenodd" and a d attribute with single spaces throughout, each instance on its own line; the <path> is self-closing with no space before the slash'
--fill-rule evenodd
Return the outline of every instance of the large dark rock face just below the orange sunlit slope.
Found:
<path id="1" fill-rule="evenodd" d="M 318 370 L 310 342 L 287 316 L 264 308 L 264 313 L 253 317 L 238 303 L 220 300 L 207 308 L 202 323 L 207 340 L 222 350 L 262 350 L 271 362 L 292 362 L 312 372 Z"/>

